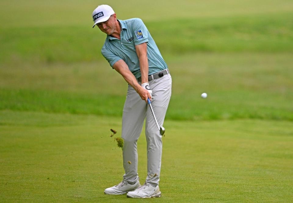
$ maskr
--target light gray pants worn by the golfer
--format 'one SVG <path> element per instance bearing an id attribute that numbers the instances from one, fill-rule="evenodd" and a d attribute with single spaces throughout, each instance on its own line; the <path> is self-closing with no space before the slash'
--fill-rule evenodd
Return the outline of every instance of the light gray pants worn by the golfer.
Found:
<path id="1" fill-rule="evenodd" d="M 159 123 L 164 123 L 166 111 L 171 97 L 172 78 L 170 74 L 149 81 L 152 94 L 152 107 Z M 146 118 L 147 138 L 147 182 L 157 186 L 160 180 L 162 136 L 156 125 L 150 106 L 140 98 L 139 94 L 128 85 L 127 97 L 122 116 L 123 167 L 125 174 L 123 179 L 129 183 L 138 180 L 137 173 L 137 140 L 143 128 Z M 130 162 L 131 164 L 129 164 Z"/>

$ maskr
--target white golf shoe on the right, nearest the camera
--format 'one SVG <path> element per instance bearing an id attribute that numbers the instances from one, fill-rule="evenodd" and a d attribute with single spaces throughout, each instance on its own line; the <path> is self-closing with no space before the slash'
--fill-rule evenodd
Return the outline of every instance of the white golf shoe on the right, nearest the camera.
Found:
<path id="1" fill-rule="evenodd" d="M 131 198 L 152 198 L 152 197 L 161 197 L 161 191 L 159 186 L 152 186 L 150 183 L 144 183 L 134 191 L 127 193 L 127 197 Z"/>

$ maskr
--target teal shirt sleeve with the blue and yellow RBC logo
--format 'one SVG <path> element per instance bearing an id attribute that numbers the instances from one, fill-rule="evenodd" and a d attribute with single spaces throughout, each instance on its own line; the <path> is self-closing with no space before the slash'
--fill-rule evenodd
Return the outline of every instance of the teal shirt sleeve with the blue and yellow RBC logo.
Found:
<path id="1" fill-rule="evenodd" d="M 144 42 L 148 42 L 148 30 L 147 27 L 144 25 L 143 21 L 139 18 L 136 18 L 133 21 L 133 36 L 134 36 L 134 45 L 139 45 Z"/>

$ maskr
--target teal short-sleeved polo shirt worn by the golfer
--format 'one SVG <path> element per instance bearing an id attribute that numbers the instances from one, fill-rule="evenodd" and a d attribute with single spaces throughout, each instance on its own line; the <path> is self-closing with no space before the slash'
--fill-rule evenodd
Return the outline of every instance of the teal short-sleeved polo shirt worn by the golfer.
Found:
<path id="1" fill-rule="evenodd" d="M 102 54 L 113 67 L 114 63 L 122 59 L 136 78 L 141 77 L 139 59 L 136 55 L 135 45 L 147 42 L 147 58 L 149 75 L 167 68 L 154 39 L 147 27 L 139 18 L 118 20 L 121 25 L 120 40 L 107 35 Z"/>

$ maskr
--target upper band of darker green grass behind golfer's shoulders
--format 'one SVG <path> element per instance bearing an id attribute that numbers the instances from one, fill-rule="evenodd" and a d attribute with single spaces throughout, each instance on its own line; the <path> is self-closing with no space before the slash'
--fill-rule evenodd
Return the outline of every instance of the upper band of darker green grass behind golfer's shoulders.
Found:
<path id="1" fill-rule="evenodd" d="M 198 52 L 292 53 L 292 12 L 144 23 L 164 57 Z M 0 27 L 0 64 L 103 61 L 105 37 L 98 28 L 85 25 Z"/>

